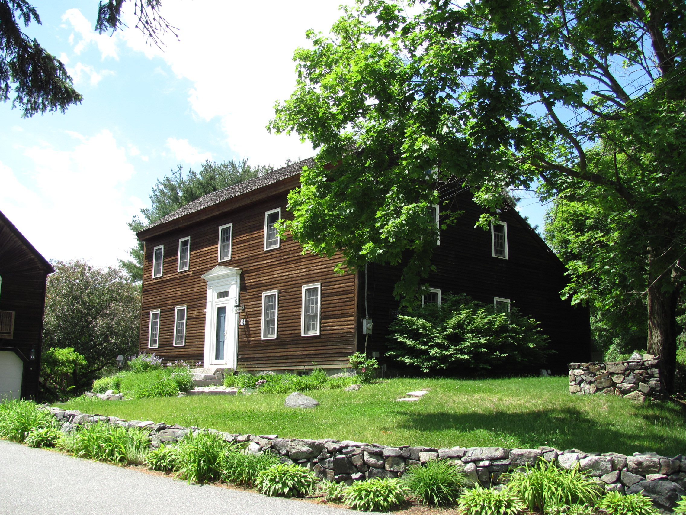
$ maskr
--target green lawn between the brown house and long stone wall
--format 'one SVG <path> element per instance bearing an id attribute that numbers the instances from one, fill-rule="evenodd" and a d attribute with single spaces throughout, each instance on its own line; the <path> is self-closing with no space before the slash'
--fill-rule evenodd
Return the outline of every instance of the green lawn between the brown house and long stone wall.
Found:
<path id="1" fill-rule="evenodd" d="M 430 388 L 418 402 L 393 402 Z M 554 446 L 630 455 L 686 452 L 686 420 L 673 404 L 633 404 L 615 396 L 571 396 L 567 377 L 393 379 L 359 391 L 308 392 L 315 409 L 283 406 L 283 393 L 189 396 L 59 404 L 128 420 L 230 433 L 352 439 L 386 445 Z"/>

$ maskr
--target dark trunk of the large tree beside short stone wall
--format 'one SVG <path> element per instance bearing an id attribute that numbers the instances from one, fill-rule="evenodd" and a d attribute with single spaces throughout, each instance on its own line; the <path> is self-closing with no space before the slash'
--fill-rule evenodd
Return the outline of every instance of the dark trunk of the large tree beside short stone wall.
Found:
<path id="1" fill-rule="evenodd" d="M 667 392 L 672 393 L 676 371 L 676 306 L 679 293 L 674 290 L 662 291 L 661 286 L 665 281 L 652 281 L 654 283 L 648 288 L 648 354 L 660 356 L 662 380 Z"/>

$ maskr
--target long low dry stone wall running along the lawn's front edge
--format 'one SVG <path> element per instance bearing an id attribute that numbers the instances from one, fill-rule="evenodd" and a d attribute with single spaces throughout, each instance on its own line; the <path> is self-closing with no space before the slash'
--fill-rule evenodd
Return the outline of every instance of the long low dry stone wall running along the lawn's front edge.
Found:
<path id="1" fill-rule="evenodd" d="M 400 477 L 412 465 L 431 459 L 449 459 L 475 484 L 484 487 L 504 482 L 502 474 L 523 466 L 533 466 L 539 459 L 562 468 L 579 466 L 598 478 L 605 490 L 633 494 L 643 492 L 661 508 L 674 507 L 686 489 L 686 457 L 660 456 L 655 453 L 584 453 L 578 449 L 558 450 L 504 447 L 434 448 L 423 446 L 383 446 L 352 440 L 279 438 L 279 435 L 240 435 L 222 433 L 196 426 L 183 427 L 150 420 L 123 420 L 117 417 L 88 415 L 78 410 L 47 407 L 62 424 L 62 431 L 76 431 L 83 424 L 117 424 L 141 428 L 150 434 L 150 445 L 175 444 L 189 433 L 208 431 L 227 442 L 244 442 L 246 452 L 274 453 L 283 463 L 295 463 L 329 481 L 352 483 L 374 477 Z"/>

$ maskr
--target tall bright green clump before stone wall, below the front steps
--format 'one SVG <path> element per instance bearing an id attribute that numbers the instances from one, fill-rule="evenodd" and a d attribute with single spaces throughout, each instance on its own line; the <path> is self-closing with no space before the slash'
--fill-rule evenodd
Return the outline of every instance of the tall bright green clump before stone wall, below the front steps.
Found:
<path id="1" fill-rule="evenodd" d="M 224 454 L 235 445 L 215 433 L 189 433 L 176 446 L 179 477 L 188 483 L 206 483 L 222 479 Z"/>

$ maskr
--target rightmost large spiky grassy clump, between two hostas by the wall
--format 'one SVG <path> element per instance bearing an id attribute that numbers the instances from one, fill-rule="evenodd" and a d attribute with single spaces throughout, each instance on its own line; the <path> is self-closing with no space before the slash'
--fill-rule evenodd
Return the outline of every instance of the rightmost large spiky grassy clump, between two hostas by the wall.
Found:
<path id="1" fill-rule="evenodd" d="M 578 464 L 569 470 L 558 468 L 543 459 L 525 472 L 507 474 L 508 486 L 517 492 L 529 510 L 546 507 L 593 504 L 602 493 L 598 482 L 579 470 Z"/>

